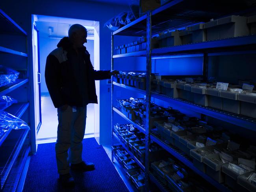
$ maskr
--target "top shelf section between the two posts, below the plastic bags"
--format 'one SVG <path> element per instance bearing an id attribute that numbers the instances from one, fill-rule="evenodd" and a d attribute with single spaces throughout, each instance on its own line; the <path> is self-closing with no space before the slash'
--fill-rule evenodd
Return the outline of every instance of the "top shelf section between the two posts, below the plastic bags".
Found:
<path id="1" fill-rule="evenodd" d="M 113 32 L 113 35 L 146 36 L 144 29 L 147 24 L 147 15 L 137 18 L 120 29 Z"/>

